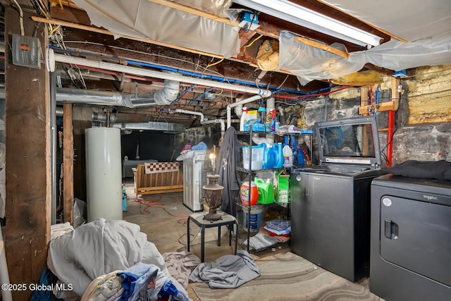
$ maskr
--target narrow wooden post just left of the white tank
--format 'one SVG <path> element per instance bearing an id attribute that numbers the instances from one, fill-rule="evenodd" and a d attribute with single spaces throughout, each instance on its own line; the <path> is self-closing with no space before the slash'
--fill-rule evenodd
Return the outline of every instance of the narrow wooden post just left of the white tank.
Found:
<path id="1" fill-rule="evenodd" d="M 63 221 L 73 225 L 72 104 L 63 105 Z"/>

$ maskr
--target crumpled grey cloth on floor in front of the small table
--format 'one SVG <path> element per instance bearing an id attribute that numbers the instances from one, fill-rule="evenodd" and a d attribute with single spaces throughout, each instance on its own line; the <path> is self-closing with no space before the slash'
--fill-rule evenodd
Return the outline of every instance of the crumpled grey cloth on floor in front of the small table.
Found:
<path id="1" fill-rule="evenodd" d="M 206 282 L 210 288 L 237 288 L 260 276 L 259 266 L 244 250 L 224 255 L 211 264 L 199 264 L 190 275 L 190 282 Z"/>

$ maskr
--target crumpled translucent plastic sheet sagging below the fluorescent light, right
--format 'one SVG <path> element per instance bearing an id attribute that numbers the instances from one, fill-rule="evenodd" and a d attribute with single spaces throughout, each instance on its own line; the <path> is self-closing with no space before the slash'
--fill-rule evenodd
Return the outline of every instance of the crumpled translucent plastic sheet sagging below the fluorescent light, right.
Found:
<path id="1" fill-rule="evenodd" d="M 362 70 L 366 63 L 404 70 L 451 63 L 451 30 L 416 42 L 390 42 L 366 51 L 350 53 L 348 59 L 295 40 L 297 35 L 281 31 L 278 69 L 297 75 L 301 85 L 311 80 L 330 80 Z"/>

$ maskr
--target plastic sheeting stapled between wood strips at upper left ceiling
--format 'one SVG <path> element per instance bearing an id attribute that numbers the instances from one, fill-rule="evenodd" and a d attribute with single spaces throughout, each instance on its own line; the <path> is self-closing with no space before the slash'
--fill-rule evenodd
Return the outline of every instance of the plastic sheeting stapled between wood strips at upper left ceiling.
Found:
<path id="1" fill-rule="evenodd" d="M 233 27 L 147 0 L 74 0 L 73 2 L 85 9 L 92 24 L 108 29 L 116 38 L 129 36 L 154 39 L 226 58 L 236 56 L 240 50 L 238 37 L 240 27 Z M 190 2 L 194 6 L 198 5 L 199 1 L 190 0 Z M 221 2 L 217 1 L 217 3 L 218 6 L 214 11 L 220 10 Z"/>

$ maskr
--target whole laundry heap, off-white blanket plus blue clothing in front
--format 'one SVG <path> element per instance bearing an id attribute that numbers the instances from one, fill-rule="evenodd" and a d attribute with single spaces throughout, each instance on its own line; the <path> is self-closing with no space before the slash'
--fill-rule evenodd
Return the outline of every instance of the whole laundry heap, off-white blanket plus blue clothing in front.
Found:
<path id="1" fill-rule="evenodd" d="M 67 232 L 66 232 L 67 231 Z M 51 240 L 47 266 L 63 285 L 63 300 L 189 300 L 162 254 L 140 226 L 98 219 L 60 229 Z M 58 234 L 60 234 L 58 233 Z M 64 289 L 68 288 L 68 289 Z M 41 299 L 42 300 L 42 299 Z"/>

